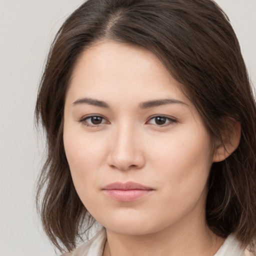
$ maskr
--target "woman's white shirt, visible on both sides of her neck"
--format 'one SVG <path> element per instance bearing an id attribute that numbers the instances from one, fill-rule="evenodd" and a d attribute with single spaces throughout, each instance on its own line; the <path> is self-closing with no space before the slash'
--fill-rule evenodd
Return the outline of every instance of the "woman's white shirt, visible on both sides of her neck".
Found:
<path id="1" fill-rule="evenodd" d="M 72 252 L 62 256 L 102 256 L 106 242 L 105 229 L 98 231 L 88 242 L 80 245 Z M 240 247 L 240 242 L 230 234 L 213 256 L 246 256 L 245 250 Z"/>

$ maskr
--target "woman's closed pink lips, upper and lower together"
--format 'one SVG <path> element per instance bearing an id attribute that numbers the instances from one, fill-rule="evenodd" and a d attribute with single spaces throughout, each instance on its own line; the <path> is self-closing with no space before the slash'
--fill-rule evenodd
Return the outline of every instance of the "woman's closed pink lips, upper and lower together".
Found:
<path id="1" fill-rule="evenodd" d="M 134 201 L 153 189 L 135 182 L 114 182 L 102 189 L 109 197 L 117 201 Z"/>

